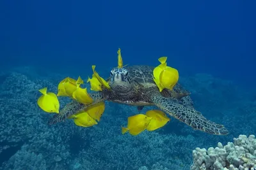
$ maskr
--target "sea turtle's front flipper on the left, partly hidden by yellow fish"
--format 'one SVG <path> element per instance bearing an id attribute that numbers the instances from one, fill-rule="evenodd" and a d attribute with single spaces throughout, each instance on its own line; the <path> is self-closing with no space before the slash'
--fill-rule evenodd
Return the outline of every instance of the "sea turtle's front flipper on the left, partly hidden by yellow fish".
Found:
<path id="1" fill-rule="evenodd" d="M 74 115 L 78 111 L 85 110 L 88 106 L 92 106 L 93 104 L 100 103 L 102 101 L 105 101 L 105 97 L 102 95 L 101 92 L 95 92 L 90 94 L 90 97 L 93 99 L 93 103 L 89 105 L 84 105 L 81 103 L 78 103 L 77 101 L 72 101 L 68 103 L 59 114 L 54 115 L 49 121 L 49 125 L 57 124 L 58 122 L 64 121 L 66 118 L 70 117 L 71 115 Z"/>

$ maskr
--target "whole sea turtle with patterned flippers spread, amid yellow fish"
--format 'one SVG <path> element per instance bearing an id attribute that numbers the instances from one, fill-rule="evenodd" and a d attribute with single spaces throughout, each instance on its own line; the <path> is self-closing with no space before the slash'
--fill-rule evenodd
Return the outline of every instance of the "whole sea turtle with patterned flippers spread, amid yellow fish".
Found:
<path id="1" fill-rule="evenodd" d="M 113 68 L 109 78 L 111 89 L 90 93 L 93 104 L 101 101 L 112 101 L 138 106 L 139 110 L 143 106 L 157 106 L 160 110 L 193 127 L 193 129 L 209 134 L 228 134 L 223 125 L 207 120 L 199 111 L 193 108 L 193 103 L 188 96 L 189 93 L 182 89 L 179 83 L 175 85 L 172 91 L 164 89 L 159 92 L 153 80 L 153 70 L 154 67 L 151 66 Z M 49 124 L 61 122 L 86 107 L 88 106 L 72 101 L 59 114 L 54 115 Z"/>

